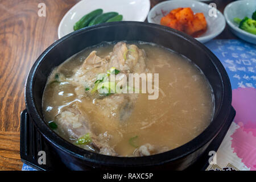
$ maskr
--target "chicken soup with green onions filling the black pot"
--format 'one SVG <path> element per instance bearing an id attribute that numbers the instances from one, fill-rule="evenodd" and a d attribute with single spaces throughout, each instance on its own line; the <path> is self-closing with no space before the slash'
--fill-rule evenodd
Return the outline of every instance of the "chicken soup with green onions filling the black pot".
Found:
<path id="1" fill-rule="evenodd" d="M 129 84 L 135 73 L 141 76 L 139 86 Z M 143 89 L 150 84 L 158 92 L 154 99 Z M 57 134 L 112 156 L 147 156 L 179 147 L 209 125 L 213 110 L 212 89 L 195 64 L 142 42 L 84 49 L 53 69 L 43 93 L 44 118 Z"/>

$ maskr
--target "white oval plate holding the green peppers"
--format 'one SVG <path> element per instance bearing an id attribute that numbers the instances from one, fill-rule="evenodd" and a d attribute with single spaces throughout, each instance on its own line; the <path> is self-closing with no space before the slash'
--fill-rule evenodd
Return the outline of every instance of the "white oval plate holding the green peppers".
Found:
<path id="1" fill-rule="evenodd" d="M 125 21 L 144 22 L 150 10 L 150 0 L 82 0 L 73 6 L 59 24 L 59 39 L 73 32 L 73 25 L 85 14 L 102 9 L 103 13 L 115 11 Z"/>

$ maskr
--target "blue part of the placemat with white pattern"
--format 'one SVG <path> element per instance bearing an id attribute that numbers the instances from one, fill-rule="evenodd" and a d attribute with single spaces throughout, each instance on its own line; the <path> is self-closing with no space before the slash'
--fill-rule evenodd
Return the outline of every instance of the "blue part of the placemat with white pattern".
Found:
<path id="1" fill-rule="evenodd" d="M 242 40 L 211 40 L 207 46 L 224 65 L 232 89 L 256 88 L 256 46 Z M 256 166 L 255 166 L 256 168 Z M 35 171 L 23 164 L 23 171 Z"/>

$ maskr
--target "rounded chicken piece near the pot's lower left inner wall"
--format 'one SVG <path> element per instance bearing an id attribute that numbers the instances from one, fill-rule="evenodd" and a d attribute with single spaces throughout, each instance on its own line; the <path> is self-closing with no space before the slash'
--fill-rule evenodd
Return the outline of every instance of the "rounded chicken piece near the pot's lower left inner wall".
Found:
<path id="1" fill-rule="evenodd" d="M 64 107 L 56 116 L 56 123 L 65 136 L 78 139 L 86 133 L 91 133 L 88 118 L 75 105 Z"/>

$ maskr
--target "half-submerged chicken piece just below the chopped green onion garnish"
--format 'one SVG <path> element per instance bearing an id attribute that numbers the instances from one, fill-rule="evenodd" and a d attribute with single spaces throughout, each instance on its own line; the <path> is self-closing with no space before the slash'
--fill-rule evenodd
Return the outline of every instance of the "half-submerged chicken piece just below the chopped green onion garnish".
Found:
<path id="1" fill-rule="evenodd" d="M 109 131 L 111 134 L 118 130 L 119 123 L 125 122 L 133 111 L 137 94 L 112 94 L 93 102 L 86 98 L 82 101 L 83 110 L 90 111 L 93 126 L 98 133 Z"/>

